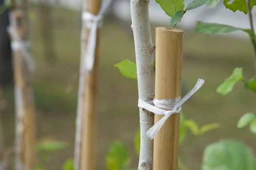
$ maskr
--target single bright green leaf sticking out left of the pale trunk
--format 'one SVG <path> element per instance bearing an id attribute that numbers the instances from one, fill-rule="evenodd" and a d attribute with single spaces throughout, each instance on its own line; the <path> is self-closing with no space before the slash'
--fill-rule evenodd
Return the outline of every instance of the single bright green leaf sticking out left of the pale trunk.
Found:
<path id="1" fill-rule="evenodd" d="M 137 67 L 136 63 L 125 59 L 121 61 L 120 63 L 116 64 L 115 67 L 119 68 L 120 73 L 124 77 L 137 79 Z"/>

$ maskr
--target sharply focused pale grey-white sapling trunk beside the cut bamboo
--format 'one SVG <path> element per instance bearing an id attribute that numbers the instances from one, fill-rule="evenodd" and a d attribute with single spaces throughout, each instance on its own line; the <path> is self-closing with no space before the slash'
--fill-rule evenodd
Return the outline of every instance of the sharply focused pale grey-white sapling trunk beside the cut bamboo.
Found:
<path id="1" fill-rule="evenodd" d="M 137 63 L 138 96 L 143 101 L 154 99 L 154 45 L 149 23 L 149 0 L 131 0 L 132 29 Z M 147 131 L 154 125 L 154 114 L 139 109 L 140 155 L 139 170 L 152 170 L 153 140 Z"/>

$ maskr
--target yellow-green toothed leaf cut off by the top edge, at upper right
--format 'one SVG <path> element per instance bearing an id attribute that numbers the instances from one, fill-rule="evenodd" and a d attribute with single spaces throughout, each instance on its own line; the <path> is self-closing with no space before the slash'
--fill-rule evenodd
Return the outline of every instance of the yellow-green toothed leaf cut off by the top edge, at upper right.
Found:
<path id="1" fill-rule="evenodd" d="M 237 10 L 243 12 L 244 14 L 248 13 L 247 6 L 246 6 L 246 0 L 224 0 L 223 4 L 226 8 L 230 9 L 233 12 L 236 12 Z M 251 8 L 253 8 L 256 5 L 256 0 L 250 0 Z"/>

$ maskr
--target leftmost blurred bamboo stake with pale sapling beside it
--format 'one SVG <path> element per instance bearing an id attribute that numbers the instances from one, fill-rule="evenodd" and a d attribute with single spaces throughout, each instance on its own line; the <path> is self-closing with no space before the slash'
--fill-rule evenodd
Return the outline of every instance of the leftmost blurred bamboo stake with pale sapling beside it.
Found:
<path id="1" fill-rule="evenodd" d="M 24 1 L 23 1 L 24 2 Z M 11 27 L 15 28 L 23 41 L 28 39 L 26 3 L 17 1 L 11 13 Z M 19 6 L 20 5 L 20 6 Z M 13 41 L 20 41 L 12 36 Z M 16 170 L 34 170 L 35 109 L 30 87 L 29 69 L 22 50 L 13 51 L 15 100 L 16 100 Z"/>

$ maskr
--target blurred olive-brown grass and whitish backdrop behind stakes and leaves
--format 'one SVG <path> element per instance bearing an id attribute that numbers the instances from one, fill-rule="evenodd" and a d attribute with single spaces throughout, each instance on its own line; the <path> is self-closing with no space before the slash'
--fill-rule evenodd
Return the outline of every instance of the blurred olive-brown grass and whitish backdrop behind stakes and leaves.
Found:
<path id="1" fill-rule="evenodd" d="M 0 0 L 2 3 L 3 0 Z M 191 0 L 186 0 L 186 4 Z M 49 170 L 60 170 L 73 157 L 78 80 L 75 78 L 80 62 L 81 0 L 31 0 L 30 39 L 36 69 L 32 85 L 36 105 L 37 142 L 57 140 L 67 146 L 51 153 L 46 162 Z M 139 128 L 137 81 L 123 77 L 114 67 L 123 59 L 135 62 L 133 33 L 130 28 L 129 0 L 114 0 L 101 31 L 101 59 L 98 93 L 97 170 L 105 170 L 108 146 L 122 141 L 137 167 L 134 137 Z M 254 13 L 255 14 L 255 13 Z M 154 42 L 154 28 L 170 27 L 168 17 L 154 1 L 150 2 L 150 18 Z M 255 140 L 247 128 L 237 129 L 239 117 L 255 112 L 255 94 L 242 84 L 227 96 L 216 88 L 242 67 L 244 77 L 254 75 L 253 48 L 246 34 L 195 34 L 197 20 L 217 22 L 249 28 L 248 16 L 233 13 L 220 3 L 214 9 L 200 7 L 188 11 L 177 28 L 186 31 L 184 37 L 182 83 L 183 94 L 197 79 L 205 85 L 183 106 L 183 114 L 200 126 L 220 122 L 221 128 L 195 137 L 188 137 L 180 147 L 180 155 L 189 170 L 199 170 L 205 146 L 222 138 L 245 142 L 256 152 Z M 10 44 L 6 34 L 8 10 L 0 15 L 0 120 L 5 150 L 14 144 L 14 87 L 12 82 Z M 13 157 L 13 156 L 11 156 Z"/>

